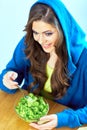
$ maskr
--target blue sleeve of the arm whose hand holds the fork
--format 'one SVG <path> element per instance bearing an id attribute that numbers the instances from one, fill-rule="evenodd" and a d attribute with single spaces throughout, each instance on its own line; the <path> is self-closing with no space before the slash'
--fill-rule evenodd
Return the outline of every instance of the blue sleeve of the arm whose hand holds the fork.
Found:
<path id="1" fill-rule="evenodd" d="M 16 46 L 12 59 L 8 62 L 8 64 L 6 65 L 6 68 L 0 74 L 0 89 L 7 93 L 16 92 L 16 89 L 10 90 L 3 85 L 3 82 L 2 82 L 3 76 L 8 71 L 15 71 L 18 73 L 17 82 L 19 84 L 21 84 L 24 78 L 24 72 L 25 72 L 25 67 L 26 67 L 24 49 L 25 49 L 25 44 L 24 44 L 24 37 L 23 37 L 18 43 L 18 45 Z"/>

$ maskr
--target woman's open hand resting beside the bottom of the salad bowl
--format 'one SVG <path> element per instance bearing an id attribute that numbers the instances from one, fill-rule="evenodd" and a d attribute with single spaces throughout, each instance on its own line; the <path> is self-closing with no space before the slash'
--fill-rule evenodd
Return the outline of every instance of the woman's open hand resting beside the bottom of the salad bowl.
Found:
<path id="1" fill-rule="evenodd" d="M 45 122 L 47 121 L 47 122 Z M 51 114 L 40 118 L 39 122 L 45 122 L 43 124 L 30 123 L 29 125 L 38 130 L 52 130 L 57 126 L 57 115 Z"/>

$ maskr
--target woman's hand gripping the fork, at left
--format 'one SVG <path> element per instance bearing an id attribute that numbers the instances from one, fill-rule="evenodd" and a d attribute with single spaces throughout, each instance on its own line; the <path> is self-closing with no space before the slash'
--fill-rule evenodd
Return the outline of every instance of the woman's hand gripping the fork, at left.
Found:
<path id="1" fill-rule="evenodd" d="M 3 84 L 9 89 L 18 88 L 18 83 L 14 81 L 18 77 L 18 74 L 14 71 L 8 71 L 3 76 Z"/>

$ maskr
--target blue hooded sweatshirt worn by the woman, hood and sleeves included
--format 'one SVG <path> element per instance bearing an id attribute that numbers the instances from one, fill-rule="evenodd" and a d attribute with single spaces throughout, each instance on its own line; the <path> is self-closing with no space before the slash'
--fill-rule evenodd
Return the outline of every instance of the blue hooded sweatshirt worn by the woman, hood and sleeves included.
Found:
<path id="1" fill-rule="evenodd" d="M 85 41 L 85 33 L 60 0 L 38 0 L 36 3 L 51 6 L 60 21 L 66 39 L 69 57 L 68 70 L 72 75 L 72 80 L 65 96 L 55 101 L 70 109 L 56 113 L 58 117 L 57 128 L 63 126 L 74 128 L 87 124 L 87 42 Z M 0 88 L 7 93 L 16 92 L 16 89 L 10 90 L 2 83 L 3 75 L 9 70 L 18 73 L 17 82 L 19 84 L 24 79 L 22 86 L 24 89 L 27 89 L 27 86 L 33 81 L 32 74 L 28 73 L 30 61 L 26 60 L 23 51 L 25 49 L 24 39 L 25 37 L 20 40 L 12 59 L 0 75 Z"/>

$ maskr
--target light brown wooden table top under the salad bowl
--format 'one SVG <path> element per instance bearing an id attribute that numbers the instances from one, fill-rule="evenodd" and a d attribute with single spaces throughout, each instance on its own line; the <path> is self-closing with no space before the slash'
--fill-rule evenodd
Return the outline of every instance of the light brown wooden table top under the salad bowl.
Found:
<path id="1" fill-rule="evenodd" d="M 15 94 L 7 94 L 0 90 L 0 130 L 36 130 L 29 126 L 29 123 L 20 119 L 15 112 L 14 105 L 22 96 L 18 91 Z M 51 100 L 48 100 L 50 110 L 49 114 L 60 112 L 66 107 Z M 54 130 L 57 130 L 56 128 Z M 58 130 L 77 130 L 66 127 L 58 128 Z"/>

